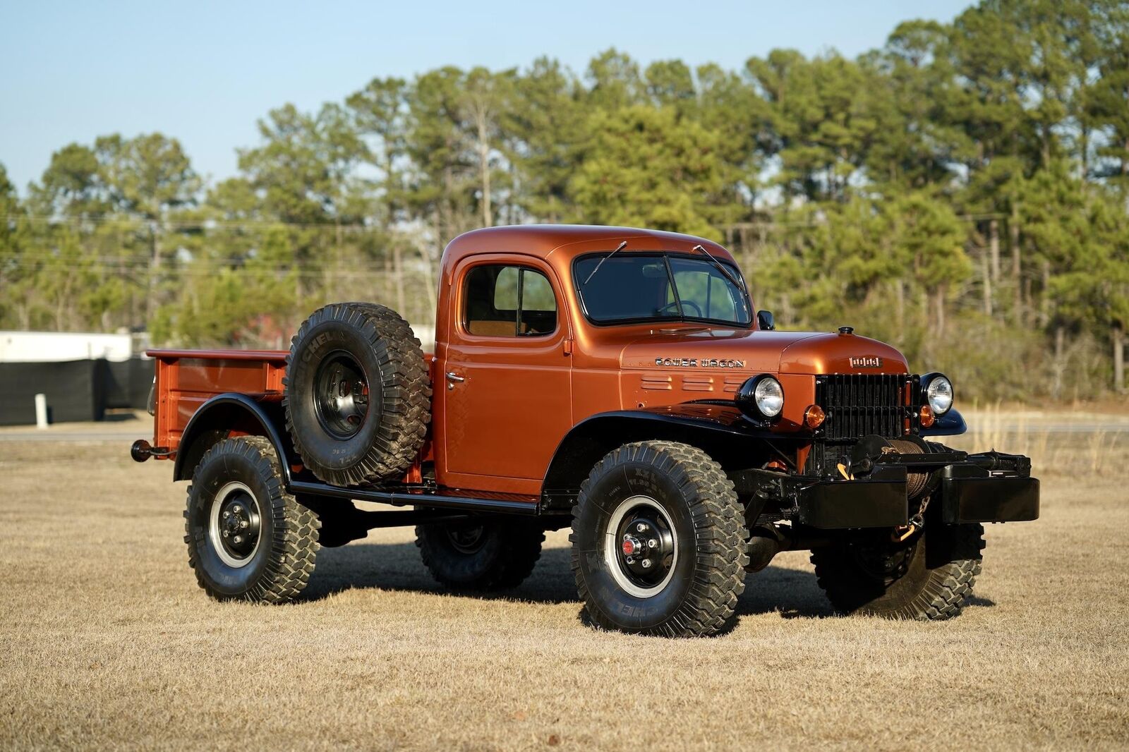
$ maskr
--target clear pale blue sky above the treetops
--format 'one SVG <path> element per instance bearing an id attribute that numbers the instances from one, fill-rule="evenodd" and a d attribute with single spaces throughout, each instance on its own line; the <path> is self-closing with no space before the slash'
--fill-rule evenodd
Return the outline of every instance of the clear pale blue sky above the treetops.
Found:
<path id="1" fill-rule="evenodd" d="M 161 131 L 196 169 L 235 173 L 272 107 L 341 99 L 376 76 L 444 64 L 583 73 L 614 46 L 636 60 L 737 69 L 772 47 L 847 55 L 910 18 L 969 2 L 25 2 L 0 0 L 0 163 L 21 191 L 51 152 L 96 135 Z"/>

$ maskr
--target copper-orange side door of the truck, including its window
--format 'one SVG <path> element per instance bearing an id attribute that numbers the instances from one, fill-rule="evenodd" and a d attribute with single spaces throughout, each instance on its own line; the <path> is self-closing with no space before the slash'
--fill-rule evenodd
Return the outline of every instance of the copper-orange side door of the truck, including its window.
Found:
<path id="1" fill-rule="evenodd" d="M 515 254 L 463 261 L 452 287 L 443 402 L 444 486 L 537 493 L 572 425 L 571 343 L 561 286 L 544 262 Z"/>

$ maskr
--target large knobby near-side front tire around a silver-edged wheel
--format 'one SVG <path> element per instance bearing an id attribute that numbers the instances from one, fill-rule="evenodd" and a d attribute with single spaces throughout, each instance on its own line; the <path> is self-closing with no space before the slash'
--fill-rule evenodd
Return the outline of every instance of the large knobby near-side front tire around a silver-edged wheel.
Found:
<path id="1" fill-rule="evenodd" d="M 677 535 L 671 579 L 645 596 L 622 586 L 622 571 L 611 570 L 618 559 L 610 563 L 607 553 L 614 509 L 634 497 L 657 502 Z M 602 629 L 666 637 L 723 631 L 745 587 L 747 539 L 733 482 L 704 452 L 674 441 L 614 449 L 580 486 L 572 509 L 571 566 L 588 621 Z"/>

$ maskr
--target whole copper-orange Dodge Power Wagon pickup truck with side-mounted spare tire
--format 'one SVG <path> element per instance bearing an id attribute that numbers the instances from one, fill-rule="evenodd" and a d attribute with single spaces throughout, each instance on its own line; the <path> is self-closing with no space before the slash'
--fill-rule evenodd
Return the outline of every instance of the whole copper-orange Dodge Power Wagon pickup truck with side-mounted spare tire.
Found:
<path id="1" fill-rule="evenodd" d="M 321 546 L 394 525 L 445 586 L 509 588 L 571 526 L 597 627 L 716 633 L 797 549 L 837 610 L 936 620 L 972 593 L 982 523 L 1039 516 L 1027 457 L 935 440 L 965 429 L 948 378 L 850 326 L 776 331 L 710 241 L 475 230 L 438 301 L 435 353 L 371 303 L 314 312 L 289 352 L 150 352 L 132 454 L 191 480 L 209 595 L 288 601 Z"/>

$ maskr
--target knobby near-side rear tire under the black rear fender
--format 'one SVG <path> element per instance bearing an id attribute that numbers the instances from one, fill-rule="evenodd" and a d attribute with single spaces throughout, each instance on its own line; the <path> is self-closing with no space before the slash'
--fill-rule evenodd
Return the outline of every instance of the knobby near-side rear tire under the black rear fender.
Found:
<path id="1" fill-rule="evenodd" d="M 245 484 L 259 508 L 260 534 L 246 565 L 222 561 L 209 534 L 216 495 L 230 482 Z M 286 603 L 309 583 L 317 551 L 317 515 L 286 492 L 271 443 L 261 436 L 224 439 L 200 458 L 184 510 L 184 542 L 196 583 L 220 601 Z"/>

